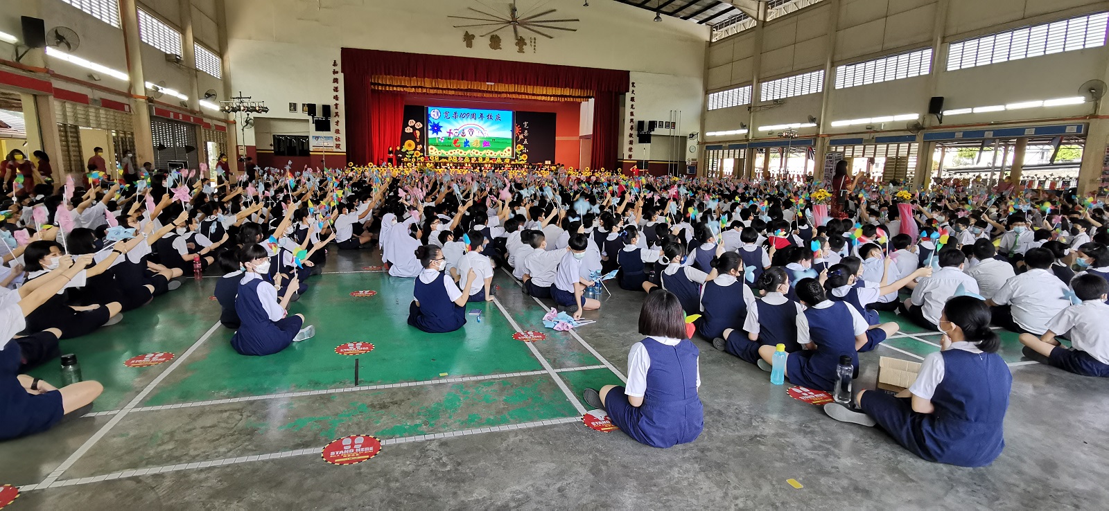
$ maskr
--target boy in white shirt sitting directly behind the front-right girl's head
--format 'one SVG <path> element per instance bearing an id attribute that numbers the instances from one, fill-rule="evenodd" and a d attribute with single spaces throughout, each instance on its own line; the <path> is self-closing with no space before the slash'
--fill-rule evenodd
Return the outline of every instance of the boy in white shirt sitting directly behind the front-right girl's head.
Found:
<path id="1" fill-rule="evenodd" d="M 956 289 L 963 285 L 967 293 L 978 293 L 978 283 L 963 273 L 966 256 L 958 248 L 944 247 L 936 256 L 939 270 L 930 277 L 922 278 L 913 289 L 913 296 L 905 299 L 901 314 L 922 328 L 936 330 L 936 323 L 944 309 L 944 304 L 955 296 Z"/>

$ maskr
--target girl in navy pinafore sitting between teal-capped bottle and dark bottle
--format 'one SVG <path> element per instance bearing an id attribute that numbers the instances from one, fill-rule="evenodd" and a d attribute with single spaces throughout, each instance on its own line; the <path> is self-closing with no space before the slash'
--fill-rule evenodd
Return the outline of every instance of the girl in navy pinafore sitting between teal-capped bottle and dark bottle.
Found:
<path id="1" fill-rule="evenodd" d="M 804 278 L 794 286 L 805 310 L 797 315 L 797 344 L 801 351 L 790 354 L 785 361 L 785 377 L 791 384 L 816 390 L 832 391 L 835 387 L 836 366 L 840 357 L 851 357 L 858 374 L 858 348 L 866 345 L 869 325 L 854 307 L 843 302 L 832 302 L 815 278 Z M 774 346 L 759 348 L 759 367 L 771 370 Z"/>

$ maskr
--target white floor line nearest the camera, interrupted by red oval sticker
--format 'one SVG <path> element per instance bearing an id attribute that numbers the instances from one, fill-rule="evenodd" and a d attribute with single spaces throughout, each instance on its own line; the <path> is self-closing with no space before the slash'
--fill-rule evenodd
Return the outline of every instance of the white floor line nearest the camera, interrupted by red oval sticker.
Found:
<path id="1" fill-rule="evenodd" d="M 584 412 L 582 412 L 582 413 L 584 413 Z M 441 440 L 441 439 L 454 438 L 454 437 L 466 437 L 466 436 L 470 436 L 470 435 L 491 433 L 491 432 L 499 432 L 499 431 L 511 431 L 511 430 L 516 430 L 516 429 L 529 429 L 529 428 L 538 428 L 538 427 L 541 427 L 541 426 L 564 425 L 564 423 L 569 423 L 569 422 L 580 422 L 580 421 L 581 421 L 581 417 L 560 417 L 558 419 L 536 420 L 536 421 L 532 421 L 532 422 L 522 422 L 522 423 L 518 423 L 518 425 L 501 425 L 501 426 L 491 426 L 491 427 L 488 427 L 488 428 L 474 428 L 474 429 L 466 429 L 466 430 L 461 430 L 461 431 L 450 431 L 450 432 L 445 432 L 445 433 L 416 435 L 416 436 L 413 436 L 413 437 L 389 438 L 389 439 L 381 440 L 381 446 L 393 446 L 393 444 L 397 444 L 397 443 L 409 443 L 409 442 L 421 442 L 421 441 L 426 441 L 426 440 Z M 182 471 L 182 470 L 193 470 L 193 469 L 206 469 L 206 468 L 212 468 L 212 467 L 222 467 L 222 466 L 225 466 L 225 464 L 238 464 L 238 463 L 246 463 L 246 462 L 251 462 L 251 461 L 274 460 L 274 459 L 278 459 L 278 458 L 289 458 L 289 457 L 295 457 L 295 456 L 305 456 L 305 454 L 316 454 L 316 456 L 318 456 L 319 452 L 321 452 L 321 450 L 323 450 L 323 448 L 324 448 L 324 446 L 319 446 L 319 447 L 312 447 L 312 448 L 307 448 L 307 449 L 294 449 L 294 450 L 291 450 L 291 451 L 271 452 L 268 454 L 241 456 L 241 457 L 237 457 L 237 458 L 222 458 L 222 459 L 217 459 L 217 460 L 210 460 L 210 461 L 202 461 L 202 462 L 166 464 L 166 466 L 162 466 L 162 467 L 152 467 L 152 468 L 146 468 L 146 469 L 130 469 L 130 470 L 123 470 L 123 471 L 120 471 L 120 472 L 112 472 L 112 473 L 103 474 L 103 476 L 91 476 L 91 477 L 87 477 L 87 478 L 67 479 L 67 480 L 62 480 L 62 481 L 53 481 L 53 482 L 51 482 L 49 484 L 45 483 L 45 482 L 40 482 L 38 484 L 27 484 L 27 486 L 19 487 L 19 491 L 24 491 L 26 492 L 26 491 L 32 491 L 32 490 L 44 490 L 47 488 L 81 486 L 81 484 L 89 484 L 89 483 L 92 483 L 92 482 L 111 481 L 111 480 L 115 480 L 115 479 L 126 479 L 126 478 L 132 478 L 132 477 L 136 477 L 136 476 L 147 476 L 147 474 L 153 474 L 153 473 L 165 473 L 165 472 L 179 472 L 179 471 Z"/>

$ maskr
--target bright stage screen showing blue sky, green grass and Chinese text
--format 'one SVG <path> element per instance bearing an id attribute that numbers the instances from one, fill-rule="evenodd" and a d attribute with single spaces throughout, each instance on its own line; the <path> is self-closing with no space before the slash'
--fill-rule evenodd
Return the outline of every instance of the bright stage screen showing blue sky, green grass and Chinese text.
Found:
<path id="1" fill-rule="evenodd" d="M 512 159 L 512 112 L 427 108 L 427 155 Z"/>

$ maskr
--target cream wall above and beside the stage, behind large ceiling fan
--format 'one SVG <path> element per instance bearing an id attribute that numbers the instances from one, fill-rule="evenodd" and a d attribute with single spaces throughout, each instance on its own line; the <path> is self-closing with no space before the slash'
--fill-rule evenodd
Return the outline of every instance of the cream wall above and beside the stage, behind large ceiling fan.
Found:
<path id="1" fill-rule="evenodd" d="M 540 62 L 587 68 L 620 69 L 670 75 L 683 91 L 684 109 L 700 112 L 693 102 L 702 101 L 704 52 L 709 29 L 693 22 L 664 18 L 612 1 L 594 1 L 590 7 L 578 2 L 548 3 L 520 0 L 521 12 L 546 4 L 558 9 L 557 18 L 577 18 L 576 32 L 550 31 L 554 39 L 539 37 L 535 48 L 517 53 L 511 32 L 500 32 L 502 49 L 491 50 L 487 39 L 477 39 L 466 48 L 466 30 L 480 35 L 480 28 L 455 29 L 455 24 L 480 23 L 448 18 L 475 16 L 467 6 L 480 4 L 450 0 L 228 0 L 227 58 L 233 69 L 232 86 L 265 100 L 271 116 L 303 117 L 288 114 L 286 104 L 334 103 L 332 61 L 340 48 L 363 48 L 408 53 L 444 54 L 480 59 Z M 497 3 L 496 6 L 500 6 Z M 526 31 L 525 31 L 526 32 Z M 342 82 L 342 80 L 340 80 Z M 340 89 L 342 91 L 342 89 Z M 344 98 L 344 92 L 339 93 Z M 343 110 L 344 101 L 339 101 Z M 699 104 L 699 103 L 698 103 Z M 669 110 L 669 108 L 664 109 Z M 345 119 L 345 117 L 340 117 Z M 586 116 L 582 116 L 584 122 Z M 345 133 L 345 125 L 340 126 Z M 588 134 L 591 127 L 583 127 Z M 692 129 L 691 131 L 698 131 Z M 247 132 L 245 144 L 253 144 Z M 627 147 L 624 147 L 625 150 Z"/>

